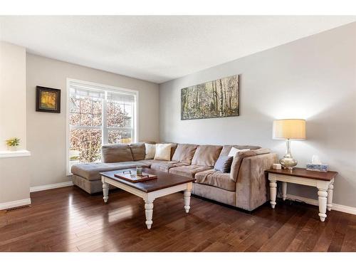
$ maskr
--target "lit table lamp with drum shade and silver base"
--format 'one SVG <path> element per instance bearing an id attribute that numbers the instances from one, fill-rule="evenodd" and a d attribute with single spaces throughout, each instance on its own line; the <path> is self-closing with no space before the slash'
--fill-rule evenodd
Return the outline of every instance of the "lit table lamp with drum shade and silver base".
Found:
<path id="1" fill-rule="evenodd" d="M 288 119 L 273 121 L 273 139 L 286 140 L 286 155 L 284 155 L 279 163 L 281 163 L 284 169 L 292 170 L 298 162 L 290 154 L 290 140 L 305 139 L 305 120 Z"/>

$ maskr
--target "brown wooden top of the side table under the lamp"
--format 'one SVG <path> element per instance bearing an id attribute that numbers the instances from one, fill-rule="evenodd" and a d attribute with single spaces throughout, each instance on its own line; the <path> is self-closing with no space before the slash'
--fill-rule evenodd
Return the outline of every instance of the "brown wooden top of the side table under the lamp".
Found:
<path id="1" fill-rule="evenodd" d="M 295 177 L 303 177 L 309 179 L 318 179 L 323 181 L 331 181 L 337 175 L 337 172 L 317 172 L 317 171 L 308 171 L 304 168 L 294 168 L 293 171 L 289 169 L 268 169 L 266 172 L 273 174 L 284 174 Z"/>

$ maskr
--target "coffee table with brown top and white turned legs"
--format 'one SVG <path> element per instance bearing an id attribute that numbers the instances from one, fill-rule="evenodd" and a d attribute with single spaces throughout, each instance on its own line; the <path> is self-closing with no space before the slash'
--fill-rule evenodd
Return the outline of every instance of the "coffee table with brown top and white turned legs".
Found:
<path id="1" fill-rule="evenodd" d="M 114 175 L 129 170 L 133 172 L 136 171 L 136 169 L 120 169 L 117 171 L 100 172 L 101 181 L 103 182 L 103 199 L 105 203 L 108 202 L 109 199 L 109 184 L 131 194 L 135 194 L 137 197 L 142 197 L 145 201 L 147 229 L 151 229 L 153 223 L 153 201 L 157 199 L 157 197 L 163 197 L 168 194 L 184 191 L 184 209 L 185 212 L 189 213 L 190 195 L 192 192 L 193 182 L 195 181 L 194 178 L 184 177 L 177 174 L 169 174 L 167 172 L 159 172 L 148 168 L 143 168 L 142 172 L 155 174 L 157 175 L 157 179 L 147 182 L 133 183 L 117 178 Z"/>

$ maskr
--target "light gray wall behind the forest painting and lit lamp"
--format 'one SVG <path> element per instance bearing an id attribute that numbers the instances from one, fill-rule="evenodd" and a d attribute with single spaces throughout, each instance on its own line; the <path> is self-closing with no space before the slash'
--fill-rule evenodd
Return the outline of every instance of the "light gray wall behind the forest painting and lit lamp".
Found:
<path id="1" fill-rule="evenodd" d="M 272 140 L 272 122 L 305 118 L 307 140 L 293 141 L 299 167 L 319 155 L 335 179 L 334 202 L 356 206 L 356 23 L 239 58 L 159 85 L 161 141 L 269 147 L 283 156 L 285 143 Z M 180 120 L 180 90 L 240 74 L 239 117 Z M 316 198 L 310 187 L 288 194 Z"/>

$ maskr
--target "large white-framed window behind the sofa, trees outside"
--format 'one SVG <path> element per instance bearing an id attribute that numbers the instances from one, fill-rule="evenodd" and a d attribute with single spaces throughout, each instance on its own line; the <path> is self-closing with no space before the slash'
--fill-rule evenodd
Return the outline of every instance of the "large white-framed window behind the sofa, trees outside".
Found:
<path id="1" fill-rule="evenodd" d="M 68 171 L 99 162 L 102 145 L 137 140 L 137 91 L 68 80 L 67 114 Z"/>

